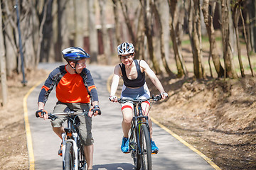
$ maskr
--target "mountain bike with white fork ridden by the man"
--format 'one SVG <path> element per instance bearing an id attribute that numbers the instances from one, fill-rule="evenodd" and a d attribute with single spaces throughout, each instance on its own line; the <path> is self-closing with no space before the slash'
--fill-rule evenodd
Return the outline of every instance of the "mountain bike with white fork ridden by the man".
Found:
<path id="1" fill-rule="evenodd" d="M 92 111 L 94 113 L 97 111 L 98 115 L 101 114 L 100 109 L 92 109 Z M 75 112 L 67 108 L 64 113 L 49 113 L 48 118 L 55 120 L 58 116 L 63 115 L 68 118 L 68 126 L 64 128 L 65 133 L 62 134 L 63 170 L 85 170 L 86 160 L 83 145 L 80 141 L 78 115 L 88 116 L 88 112 Z M 36 113 L 36 117 L 39 117 L 38 113 Z"/>

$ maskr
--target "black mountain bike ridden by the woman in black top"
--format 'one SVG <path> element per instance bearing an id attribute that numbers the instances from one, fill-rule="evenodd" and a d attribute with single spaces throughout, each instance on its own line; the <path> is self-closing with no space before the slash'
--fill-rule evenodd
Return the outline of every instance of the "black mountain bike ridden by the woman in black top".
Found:
<path id="1" fill-rule="evenodd" d="M 119 98 L 119 103 L 127 101 L 132 102 L 134 106 L 134 117 L 132 118 L 132 125 L 129 136 L 129 150 L 132 152 L 134 166 L 136 170 L 152 169 L 151 161 L 151 139 L 149 132 L 149 117 L 142 113 L 142 102 L 144 101 L 159 101 L 161 96 L 151 96 L 145 99 L 133 98 Z M 152 104 L 153 104 L 152 103 Z M 151 104 L 151 106 L 152 106 Z M 150 108 L 149 108 L 150 110 Z M 155 152 L 154 154 L 156 154 Z"/>

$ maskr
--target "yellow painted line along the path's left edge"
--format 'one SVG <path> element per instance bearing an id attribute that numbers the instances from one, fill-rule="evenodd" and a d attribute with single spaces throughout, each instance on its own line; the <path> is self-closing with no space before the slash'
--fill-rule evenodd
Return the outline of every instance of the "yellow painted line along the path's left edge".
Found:
<path id="1" fill-rule="evenodd" d="M 27 140 L 27 147 L 28 147 L 28 161 L 29 161 L 29 169 L 34 170 L 35 169 L 35 158 L 33 154 L 33 144 L 32 144 L 32 137 L 31 137 L 31 130 L 30 125 L 28 121 L 28 108 L 27 108 L 27 99 L 29 94 L 33 91 L 33 89 L 36 88 L 39 84 L 41 84 L 42 81 L 38 82 L 35 86 L 33 86 L 26 96 L 23 98 L 23 112 L 24 112 L 24 120 L 25 120 L 25 129 L 26 129 L 26 140 Z"/>

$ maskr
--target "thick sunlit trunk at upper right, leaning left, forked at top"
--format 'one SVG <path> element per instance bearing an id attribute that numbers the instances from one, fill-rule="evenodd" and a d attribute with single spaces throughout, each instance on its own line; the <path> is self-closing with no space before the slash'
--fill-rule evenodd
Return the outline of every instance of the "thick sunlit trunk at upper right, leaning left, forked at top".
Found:
<path id="1" fill-rule="evenodd" d="M 218 74 L 218 77 L 224 76 L 224 69 L 220 64 L 220 55 L 218 54 L 218 49 L 216 45 L 215 40 L 215 30 L 213 28 L 213 16 L 215 11 L 215 1 L 211 2 L 212 4 L 209 5 L 209 0 L 203 1 L 203 16 L 204 16 L 204 22 L 206 23 L 206 30 L 208 33 L 209 43 L 210 43 L 210 56 L 213 58 L 213 64 L 215 67 L 215 70 Z M 211 11 L 209 11 L 209 8 L 211 7 Z M 209 56 L 209 58 L 210 58 Z M 209 63 L 210 65 L 210 63 Z M 211 69 L 210 69 L 211 72 Z M 212 76 L 212 74 L 211 74 Z M 213 76 L 212 76 L 213 77 Z"/>

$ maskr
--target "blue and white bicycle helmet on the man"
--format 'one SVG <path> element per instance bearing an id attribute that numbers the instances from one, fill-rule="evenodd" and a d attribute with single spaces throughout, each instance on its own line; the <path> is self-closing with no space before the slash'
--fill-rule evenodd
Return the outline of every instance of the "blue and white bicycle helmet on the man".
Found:
<path id="1" fill-rule="evenodd" d="M 67 62 L 78 62 L 79 60 L 90 58 L 90 55 L 80 47 L 68 47 L 62 51 L 62 54 Z"/>

